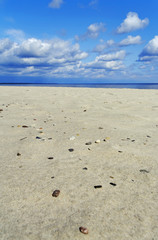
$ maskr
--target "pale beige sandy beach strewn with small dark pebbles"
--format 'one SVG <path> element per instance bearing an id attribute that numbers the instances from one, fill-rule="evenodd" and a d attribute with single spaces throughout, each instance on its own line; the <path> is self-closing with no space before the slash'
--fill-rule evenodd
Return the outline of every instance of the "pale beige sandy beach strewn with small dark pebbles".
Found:
<path id="1" fill-rule="evenodd" d="M 0 109 L 1 240 L 158 239 L 158 90 L 5 86 Z"/>

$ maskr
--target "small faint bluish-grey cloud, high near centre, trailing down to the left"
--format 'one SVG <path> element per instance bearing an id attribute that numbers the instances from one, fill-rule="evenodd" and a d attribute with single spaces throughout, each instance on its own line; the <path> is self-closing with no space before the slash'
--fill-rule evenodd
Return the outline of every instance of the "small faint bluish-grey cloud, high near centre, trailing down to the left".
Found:
<path id="1" fill-rule="evenodd" d="M 95 39 L 99 36 L 101 32 L 105 32 L 105 25 L 103 23 L 93 23 L 88 26 L 87 31 L 83 35 L 76 35 L 75 39 L 79 40 L 86 40 L 88 38 Z"/>

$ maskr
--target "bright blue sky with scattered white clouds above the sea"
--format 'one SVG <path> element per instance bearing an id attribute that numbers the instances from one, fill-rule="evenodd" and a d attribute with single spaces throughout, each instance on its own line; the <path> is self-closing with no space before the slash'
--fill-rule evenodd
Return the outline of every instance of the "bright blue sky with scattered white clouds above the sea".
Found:
<path id="1" fill-rule="evenodd" d="M 0 0 L 0 83 L 158 83 L 157 0 Z"/>

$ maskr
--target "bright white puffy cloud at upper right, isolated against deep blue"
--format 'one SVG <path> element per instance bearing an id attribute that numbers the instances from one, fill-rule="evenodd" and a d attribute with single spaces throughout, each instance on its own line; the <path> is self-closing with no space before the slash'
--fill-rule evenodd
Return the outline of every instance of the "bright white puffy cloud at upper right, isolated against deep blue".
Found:
<path id="1" fill-rule="evenodd" d="M 126 19 L 117 28 L 117 33 L 128 33 L 138 29 L 145 28 L 149 24 L 148 18 L 141 20 L 135 12 L 129 12 Z"/>

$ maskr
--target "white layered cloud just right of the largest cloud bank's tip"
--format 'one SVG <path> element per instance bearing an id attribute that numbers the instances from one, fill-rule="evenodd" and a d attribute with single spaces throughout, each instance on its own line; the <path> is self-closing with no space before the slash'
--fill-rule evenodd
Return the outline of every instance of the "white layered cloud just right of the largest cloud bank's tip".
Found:
<path id="1" fill-rule="evenodd" d="M 94 61 L 84 64 L 85 68 L 104 69 L 107 71 L 116 71 L 124 68 L 122 60 L 125 58 L 124 50 L 102 54 L 97 56 Z"/>

